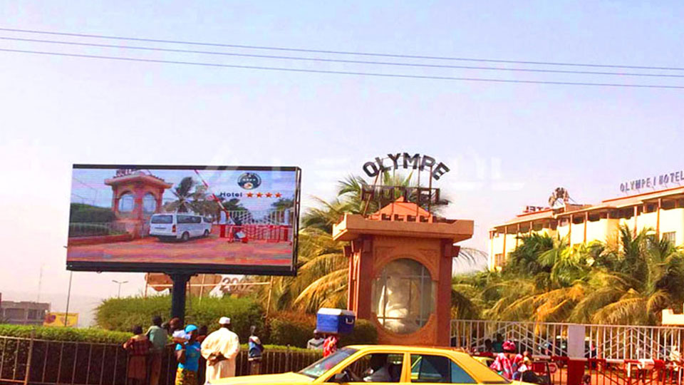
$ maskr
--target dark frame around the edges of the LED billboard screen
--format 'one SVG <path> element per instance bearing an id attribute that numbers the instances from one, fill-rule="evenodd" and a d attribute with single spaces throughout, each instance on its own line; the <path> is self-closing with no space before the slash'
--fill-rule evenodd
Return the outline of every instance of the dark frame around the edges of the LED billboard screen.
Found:
<path id="1" fill-rule="evenodd" d="M 294 171 L 294 221 L 292 223 L 292 262 L 291 266 L 255 265 L 218 265 L 187 263 L 147 263 L 147 262 L 90 262 L 69 261 L 66 270 L 80 272 L 162 272 L 166 274 L 195 275 L 204 273 L 296 276 L 299 255 L 299 215 L 301 211 L 301 168 L 297 166 L 217 166 L 217 165 L 123 165 L 123 164 L 74 164 L 76 169 L 135 169 L 135 170 L 218 170 L 218 171 Z M 68 252 L 67 252 L 68 255 Z"/>

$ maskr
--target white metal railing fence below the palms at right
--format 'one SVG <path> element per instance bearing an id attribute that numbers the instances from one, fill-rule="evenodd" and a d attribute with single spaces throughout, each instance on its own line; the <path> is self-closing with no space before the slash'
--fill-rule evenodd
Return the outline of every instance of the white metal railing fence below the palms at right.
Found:
<path id="1" fill-rule="evenodd" d="M 516 342 L 519 350 L 535 356 L 567 356 L 571 325 L 551 322 L 503 322 L 455 319 L 451 344 L 469 351 L 483 351 L 485 342 Z M 628 325 L 578 325 L 584 327 L 584 358 L 608 360 L 668 360 L 678 356 L 683 328 Z M 487 342 L 487 343 L 489 343 Z M 678 357 L 675 357 L 678 360 Z"/>

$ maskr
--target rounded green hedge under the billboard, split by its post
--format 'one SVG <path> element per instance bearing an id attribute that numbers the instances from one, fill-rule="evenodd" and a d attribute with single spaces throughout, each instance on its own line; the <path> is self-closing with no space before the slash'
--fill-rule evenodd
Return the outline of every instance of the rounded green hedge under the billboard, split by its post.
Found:
<path id="1" fill-rule="evenodd" d="M 129 332 L 135 325 L 146 329 L 155 315 L 167 320 L 171 312 L 171 297 L 127 297 L 105 299 L 95 310 L 95 322 L 98 327 L 120 332 Z M 198 327 L 207 325 L 209 332 L 218 329 L 219 318 L 230 317 L 232 329 L 247 341 L 249 327 L 255 325 L 264 330 L 263 309 L 249 298 L 203 297 L 200 304 L 198 297 L 189 297 L 185 303 L 186 324 Z"/>

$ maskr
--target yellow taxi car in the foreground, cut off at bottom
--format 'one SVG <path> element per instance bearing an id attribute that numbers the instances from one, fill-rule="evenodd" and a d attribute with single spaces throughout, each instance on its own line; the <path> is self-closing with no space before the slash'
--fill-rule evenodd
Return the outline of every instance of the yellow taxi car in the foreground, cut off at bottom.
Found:
<path id="1" fill-rule="evenodd" d="M 358 345 L 338 349 L 294 373 L 241 376 L 225 384 L 509 384 L 468 354 L 452 349 Z M 518 381 L 516 381 L 518 382 Z"/>

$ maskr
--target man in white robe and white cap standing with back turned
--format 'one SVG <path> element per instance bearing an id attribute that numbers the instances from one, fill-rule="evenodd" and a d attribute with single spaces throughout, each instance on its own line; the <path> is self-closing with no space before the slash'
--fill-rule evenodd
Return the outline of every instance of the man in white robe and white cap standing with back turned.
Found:
<path id="1" fill-rule="evenodd" d="M 235 376 L 235 359 L 240 351 L 237 334 L 230 331 L 230 319 L 219 319 L 221 328 L 202 342 L 202 356 L 207 360 L 206 381 Z"/>

